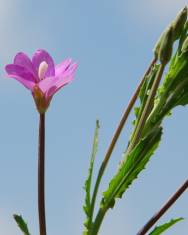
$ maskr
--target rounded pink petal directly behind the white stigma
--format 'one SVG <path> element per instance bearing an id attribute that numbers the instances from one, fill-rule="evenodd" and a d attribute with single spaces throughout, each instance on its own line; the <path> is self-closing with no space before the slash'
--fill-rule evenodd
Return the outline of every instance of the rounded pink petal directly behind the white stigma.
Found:
<path id="1" fill-rule="evenodd" d="M 37 71 L 37 75 L 38 75 L 39 66 L 43 61 L 45 61 L 48 64 L 48 69 L 46 70 L 45 77 L 54 76 L 55 75 L 54 61 L 52 57 L 48 54 L 48 52 L 42 49 L 37 50 L 32 58 L 32 63 Z"/>

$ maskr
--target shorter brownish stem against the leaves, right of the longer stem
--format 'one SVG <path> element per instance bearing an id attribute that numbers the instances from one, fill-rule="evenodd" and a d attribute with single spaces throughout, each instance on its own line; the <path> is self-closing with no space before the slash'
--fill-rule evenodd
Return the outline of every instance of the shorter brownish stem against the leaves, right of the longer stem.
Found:
<path id="1" fill-rule="evenodd" d="M 161 81 L 161 78 L 162 78 L 162 75 L 163 75 L 163 72 L 164 72 L 164 68 L 165 68 L 165 65 L 161 64 L 160 67 L 159 67 L 158 73 L 156 75 L 156 79 L 155 79 L 155 81 L 154 81 L 154 83 L 152 85 L 149 97 L 148 97 L 148 99 L 146 101 L 146 105 L 144 107 L 143 113 L 142 113 L 142 115 L 140 117 L 140 120 L 139 120 L 138 126 L 136 128 L 135 134 L 133 136 L 132 141 L 130 142 L 130 145 L 128 147 L 127 152 L 130 152 L 135 147 L 135 145 L 138 143 L 138 141 L 139 141 L 139 139 L 141 137 L 144 124 L 145 124 L 145 122 L 147 120 L 147 117 L 148 117 L 148 115 L 149 115 L 149 113 L 151 111 L 151 108 L 153 106 L 154 98 L 155 98 L 155 95 L 156 95 L 159 83 Z"/>

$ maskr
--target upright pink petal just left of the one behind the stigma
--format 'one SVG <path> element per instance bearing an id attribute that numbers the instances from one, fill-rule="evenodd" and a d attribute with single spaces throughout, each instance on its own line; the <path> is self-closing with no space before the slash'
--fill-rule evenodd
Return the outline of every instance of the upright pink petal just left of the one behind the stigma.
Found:
<path id="1" fill-rule="evenodd" d="M 15 57 L 14 57 L 14 64 L 15 65 L 20 65 L 24 67 L 28 72 L 33 74 L 33 77 L 36 79 L 37 82 L 37 73 L 36 70 L 30 60 L 30 58 L 24 54 L 23 52 L 19 52 Z"/>

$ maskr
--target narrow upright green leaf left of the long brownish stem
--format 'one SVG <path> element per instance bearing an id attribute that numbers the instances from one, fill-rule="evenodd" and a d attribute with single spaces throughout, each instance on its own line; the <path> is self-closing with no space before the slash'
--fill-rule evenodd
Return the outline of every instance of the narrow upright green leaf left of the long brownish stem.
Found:
<path id="1" fill-rule="evenodd" d="M 91 153 L 91 158 L 90 158 L 90 165 L 89 165 L 89 170 L 88 170 L 88 176 L 85 181 L 85 205 L 83 206 L 83 209 L 86 214 L 86 221 L 84 222 L 84 225 L 86 228 L 88 228 L 90 222 L 91 222 L 91 181 L 92 181 L 92 174 L 93 174 L 93 166 L 94 166 L 94 161 L 95 157 L 97 154 L 97 149 L 98 149 L 98 135 L 99 135 L 99 121 L 96 121 L 96 128 L 95 128 L 95 133 L 94 133 L 94 139 L 93 139 L 93 148 L 92 148 L 92 153 Z"/>

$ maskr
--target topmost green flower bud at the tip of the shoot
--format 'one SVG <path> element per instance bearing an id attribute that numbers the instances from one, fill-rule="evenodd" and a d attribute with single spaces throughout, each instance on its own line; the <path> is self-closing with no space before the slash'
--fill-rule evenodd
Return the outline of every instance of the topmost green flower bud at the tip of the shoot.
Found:
<path id="1" fill-rule="evenodd" d="M 173 28 L 173 39 L 177 40 L 184 28 L 187 21 L 187 6 L 185 6 L 179 14 L 176 16 L 175 20 L 172 22 L 171 26 Z"/>

